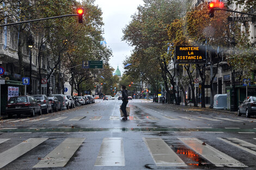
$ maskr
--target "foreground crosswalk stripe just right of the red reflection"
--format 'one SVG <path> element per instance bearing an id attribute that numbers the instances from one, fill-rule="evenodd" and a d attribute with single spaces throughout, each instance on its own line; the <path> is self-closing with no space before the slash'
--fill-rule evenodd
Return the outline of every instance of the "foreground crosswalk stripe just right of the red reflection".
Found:
<path id="1" fill-rule="evenodd" d="M 202 155 L 205 159 L 213 163 L 217 167 L 247 167 L 243 163 L 231 158 L 230 156 L 220 152 L 214 147 L 208 144 L 204 145 L 203 142 L 198 140 L 198 138 L 179 138 L 188 147 Z"/>

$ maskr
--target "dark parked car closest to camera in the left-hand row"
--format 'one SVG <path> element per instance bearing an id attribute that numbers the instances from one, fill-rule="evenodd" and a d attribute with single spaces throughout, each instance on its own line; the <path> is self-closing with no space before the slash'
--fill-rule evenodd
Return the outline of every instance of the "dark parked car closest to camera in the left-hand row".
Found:
<path id="1" fill-rule="evenodd" d="M 5 108 L 8 117 L 11 118 L 13 115 L 20 117 L 21 114 L 28 114 L 35 116 L 42 114 L 41 104 L 33 96 L 15 96 L 11 97 Z"/>

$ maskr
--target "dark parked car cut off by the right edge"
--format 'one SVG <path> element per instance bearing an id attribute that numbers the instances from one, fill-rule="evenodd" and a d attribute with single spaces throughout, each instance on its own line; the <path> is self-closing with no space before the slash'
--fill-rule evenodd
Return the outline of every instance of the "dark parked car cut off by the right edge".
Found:
<path id="1" fill-rule="evenodd" d="M 248 96 L 243 102 L 240 101 L 237 116 L 241 116 L 242 114 L 245 114 L 246 117 L 256 115 L 256 96 Z"/>

